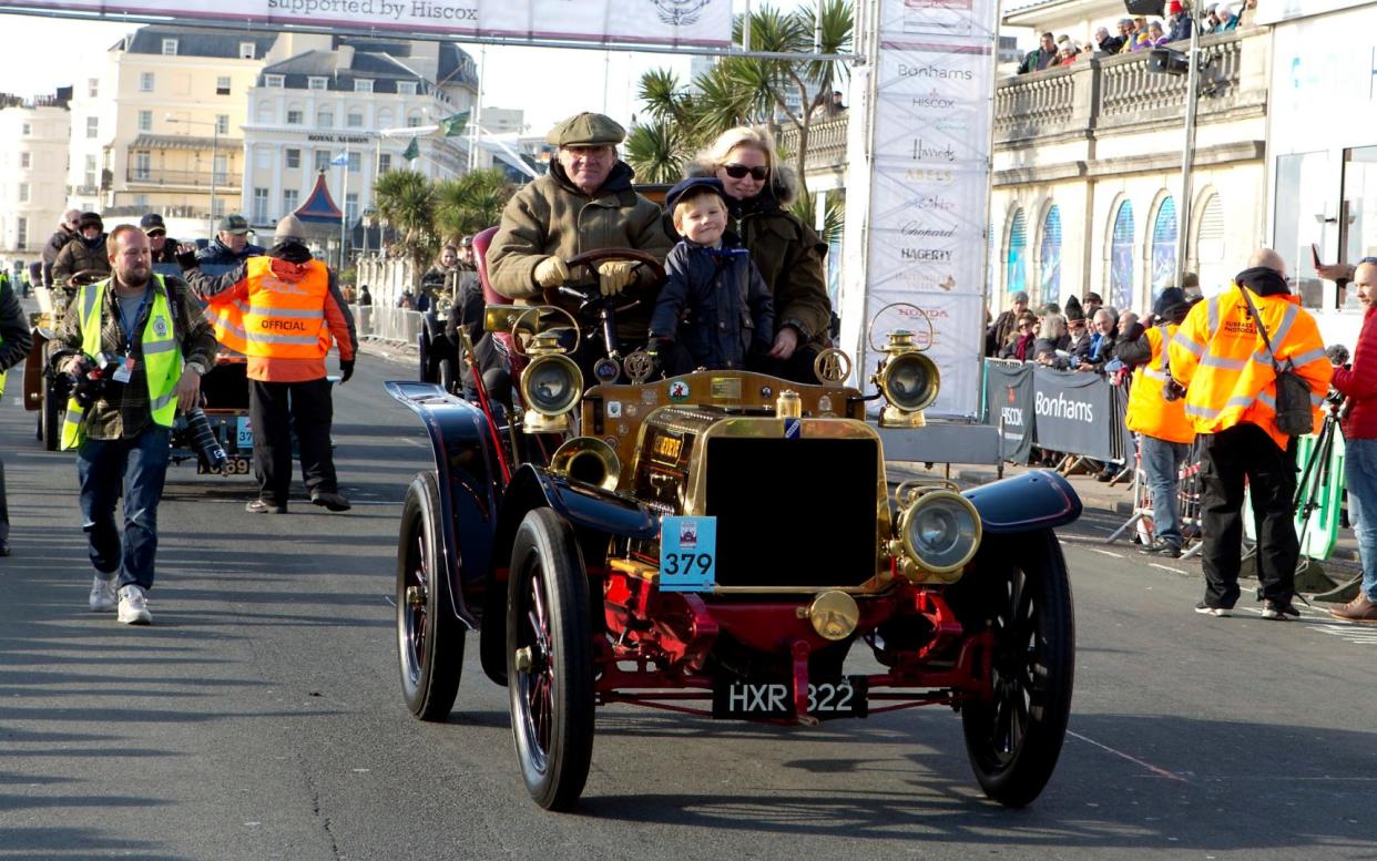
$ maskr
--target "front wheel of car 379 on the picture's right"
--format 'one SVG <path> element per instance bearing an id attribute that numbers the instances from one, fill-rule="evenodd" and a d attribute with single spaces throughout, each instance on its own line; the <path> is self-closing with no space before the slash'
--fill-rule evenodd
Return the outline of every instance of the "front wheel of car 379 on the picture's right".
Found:
<path id="1" fill-rule="evenodd" d="M 1042 792 L 1066 739 L 1075 671 L 1071 586 L 1051 531 L 987 539 L 980 553 L 960 597 L 968 630 L 983 624 L 994 634 L 993 692 L 963 707 L 961 726 L 980 788 L 1022 807 Z"/>

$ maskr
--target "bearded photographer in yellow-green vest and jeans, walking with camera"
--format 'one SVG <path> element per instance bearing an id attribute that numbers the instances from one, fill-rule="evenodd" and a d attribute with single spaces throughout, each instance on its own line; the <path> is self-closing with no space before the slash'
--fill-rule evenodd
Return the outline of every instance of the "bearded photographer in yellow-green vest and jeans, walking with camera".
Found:
<path id="1" fill-rule="evenodd" d="M 77 290 L 54 337 L 65 348 L 54 362 L 74 384 L 62 448 L 77 450 L 95 565 L 91 609 L 114 609 L 118 589 L 120 622 L 147 624 L 172 419 L 197 406 L 215 334 L 185 283 L 153 274 L 142 230 L 117 227 L 109 249 L 112 276 Z M 123 536 L 114 523 L 121 487 Z"/>

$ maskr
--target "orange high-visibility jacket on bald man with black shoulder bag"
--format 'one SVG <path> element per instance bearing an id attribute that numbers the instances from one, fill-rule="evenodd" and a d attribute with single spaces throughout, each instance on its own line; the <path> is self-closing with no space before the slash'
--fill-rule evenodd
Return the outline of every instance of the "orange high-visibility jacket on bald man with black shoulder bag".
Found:
<path id="1" fill-rule="evenodd" d="M 1267 275 L 1259 278 L 1256 272 Z M 1271 270 L 1245 270 L 1239 281 L 1263 289 L 1261 296 L 1253 289 L 1249 294 L 1276 351 L 1276 362 L 1283 367 L 1290 364 L 1310 384 L 1318 425 L 1333 369 L 1325 358 L 1315 318 L 1300 307 L 1297 297 L 1285 292 L 1285 282 Z M 1187 386 L 1186 415 L 1197 433 L 1217 433 L 1250 422 L 1279 447 L 1286 447 L 1286 435 L 1276 429 L 1272 356 L 1257 333 L 1238 283 L 1191 308 L 1172 338 L 1170 362 L 1172 375 Z"/>

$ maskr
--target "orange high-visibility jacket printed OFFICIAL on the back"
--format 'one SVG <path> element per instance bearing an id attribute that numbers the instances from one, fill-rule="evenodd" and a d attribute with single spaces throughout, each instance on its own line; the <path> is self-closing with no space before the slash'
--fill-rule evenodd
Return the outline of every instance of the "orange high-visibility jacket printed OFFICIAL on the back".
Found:
<path id="1" fill-rule="evenodd" d="M 291 263 L 249 257 L 229 272 L 185 272 L 205 298 L 223 344 L 248 356 L 248 377 L 264 382 L 302 382 L 325 375 L 330 341 L 341 360 L 358 348 L 354 318 L 319 260 Z"/>

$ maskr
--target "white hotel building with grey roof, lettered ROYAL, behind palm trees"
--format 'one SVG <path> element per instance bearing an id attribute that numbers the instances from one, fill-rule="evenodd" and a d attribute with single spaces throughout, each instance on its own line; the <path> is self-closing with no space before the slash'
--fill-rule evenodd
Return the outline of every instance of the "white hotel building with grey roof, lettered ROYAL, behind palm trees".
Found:
<path id="1" fill-rule="evenodd" d="M 467 169 L 467 132 L 408 131 L 472 110 L 476 69 L 467 54 L 449 43 L 296 39 L 306 50 L 267 65 L 248 94 L 240 206 L 257 232 L 300 206 L 322 171 L 354 226 L 373 206 L 381 173 L 450 179 Z M 408 161 L 413 139 L 420 154 Z"/>

